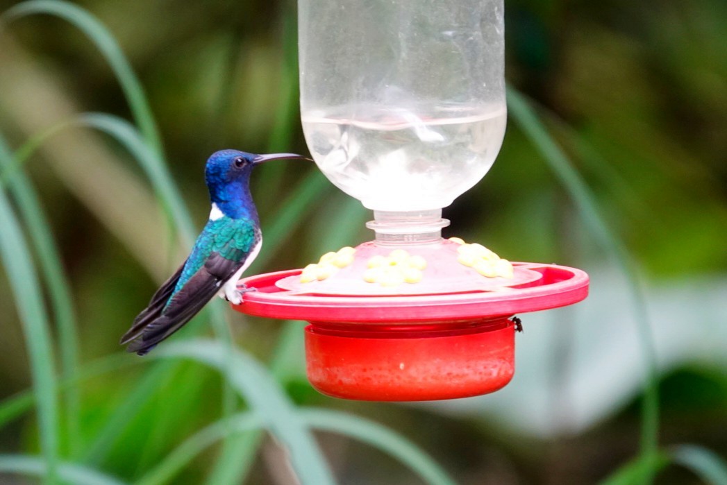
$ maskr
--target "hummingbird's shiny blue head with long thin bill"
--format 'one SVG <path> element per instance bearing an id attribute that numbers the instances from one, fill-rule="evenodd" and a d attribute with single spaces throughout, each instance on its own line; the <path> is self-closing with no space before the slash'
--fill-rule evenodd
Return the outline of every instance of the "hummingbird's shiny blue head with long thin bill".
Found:
<path id="1" fill-rule="evenodd" d="M 250 195 L 250 174 L 260 163 L 284 158 L 305 158 L 294 153 L 255 155 L 239 150 L 220 150 L 207 160 L 204 179 L 212 203 L 225 216 L 257 219 L 257 210 Z"/>

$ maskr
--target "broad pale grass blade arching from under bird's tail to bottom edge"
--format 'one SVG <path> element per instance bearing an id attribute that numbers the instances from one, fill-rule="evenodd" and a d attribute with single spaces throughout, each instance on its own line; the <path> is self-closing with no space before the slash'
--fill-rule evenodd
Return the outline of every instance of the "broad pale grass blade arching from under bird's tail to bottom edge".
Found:
<path id="1" fill-rule="evenodd" d="M 214 341 L 184 341 L 158 349 L 156 356 L 195 359 L 222 372 L 252 411 L 270 423 L 270 432 L 288 449 L 292 466 L 302 483 L 333 484 L 334 479 L 318 444 L 268 370 L 239 351 L 233 354 L 233 367 L 228 367 L 222 350 L 220 343 Z"/>

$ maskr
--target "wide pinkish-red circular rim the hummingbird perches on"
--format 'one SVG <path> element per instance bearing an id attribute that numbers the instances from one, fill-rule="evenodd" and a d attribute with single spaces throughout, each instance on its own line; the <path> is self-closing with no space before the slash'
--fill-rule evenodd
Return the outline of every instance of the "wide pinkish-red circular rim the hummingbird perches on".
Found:
<path id="1" fill-rule="evenodd" d="M 588 275 L 556 264 L 515 263 L 542 273 L 521 287 L 500 291 L 439 293 L 421 296 L 320 296 L 281 290 L 276 281 L 300 274 L 300 269 L 258 274 L 241 280 L 257 288 L 245 293 L 237 311 L 257 317 L 307 322 L 447 322 L 507 317 L 571 305 L 588 295 Z"/>

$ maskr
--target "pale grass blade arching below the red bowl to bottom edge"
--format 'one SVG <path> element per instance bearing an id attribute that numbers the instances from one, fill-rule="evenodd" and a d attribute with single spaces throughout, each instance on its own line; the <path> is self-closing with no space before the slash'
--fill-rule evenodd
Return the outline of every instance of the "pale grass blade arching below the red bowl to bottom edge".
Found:
<path id="1" fill-rule="evenodd" d="M 429 455 L 411 441 L 379 423 L 332 409 L 303 408 L 298 414 L 313 428 L 340 433 L 387 452 L 429 484 L 455 484 L 455 481 Z"/>

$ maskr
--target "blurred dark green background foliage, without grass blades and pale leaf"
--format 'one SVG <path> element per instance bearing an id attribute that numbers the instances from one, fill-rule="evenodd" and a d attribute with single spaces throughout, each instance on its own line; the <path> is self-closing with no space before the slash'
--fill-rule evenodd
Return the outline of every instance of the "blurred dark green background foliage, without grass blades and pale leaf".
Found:
<path id="1" fill-rule="evenodd" d="M 0 12 L 15 4 L 0 1 Z M 149 131 L 140 129 L 138 136 L 151 142 L 145 147 L 153 156 L 166 160 L 173 190 L 182 194 L 194 227 L 201 227 L 209 211 L 202 179 L 209 153 L 223 147 L 306 152 L 297 118 L 293 2 L 76 4 L 108 28 L 140 79 L 163 149 L 155 151 Z M 608 230 L 625 242 L 638 270 L 659 285 L 723 279 L 727 3 L 512 0 L 506 12 L 510 85 L 531 100 L 552 140 L 574 162 Z M 85 112 L 138 122 L 119 77 L 79 30 L 47 15 L 4 25 L 0 133 L 9 147 L 23 147 Z M 198 362 L 118 355 L 119 335 L 182 257 L 188 241 L 177 231 L 180 215 L 170 213 L 163 192 L 150 184 L 126 147 L 99 131 L 60 129 L 22 168 L 60 250 L 78 335 L 78 353 L 63 357 L 68 344 L 59 342 L 66 334 L 51 313 L 57 360 L 63 362 L 54 360 L 46 371 L 54 370 L 64 393 L 45 405 L 61 411 L 58 473 L 76 477 L 68 479 L 71 483 L 81 483 L 78 477 L 89 470 L 129 483 L 150 480 L 150 471 L 190 436 L 233 413 L 254 410 L 220 372 Z M 300 267 L 327 250 L 371 237 L 363 225 L 369 213 L 313 166 L 265 166 L 252 190 L 266 246 L 251 272 Z M 17 194 L 10 195 L 18 208 Z M 536 145 L 512 121 L 491 172 L 446 208 L 445 216 L 452 221 L 447 235 L 480 240 L 512 259 L 589 270 L 609 261 Z M 31 250 L 39 260 L 39 250 Z M 9 274 L 8 265 L 4 270 L 1 274 Z M 38 370 L 23 346 L 11 283 L 0 277 L 5 343 L 0 396 L 7 398 L 0 413 L 0 453 L 37 455 L 39 436 L 52 437 L 43 433 L 43 420 L 36 420 L 43 405 L 37 414 L 27 410 L 27 390 L 33 376 L 38 382 Z M 53 308 L 52 290 L 35 296 Z M 217 305 L 175 339 L 212 334 L 214 327 L 224 345 L 225 332 L 209 325 L 210 319 L 226 322 L 236 346 L 268 364 L 268 378 L 283 386 L 292 402 L 386 425 L 434 457 L 459 484 L 595 483 L 609 476 L 609 483 L 630 483 L 639 476 L 638 463 L 619 467 L 638 450 L 642 396 L 632 396 L 630 404 L 611 409 L 606 422 L 585 431 L 550 439 L 523 436 L 486 417 L 445 417 L 427 409 L 321 396 L 302 378 L 297 323 L 247 318 Z M 666 451 L 654 457 L 661 468 L 657 483 L 699 483 L 692 472 L 664 467 L 672 460 L 699 468 L 707 455 L 670 445 L 698 443 L 727 454 L 724 368 L 696 362 L 661 376 L 659 439 Z M 69 399 L 73 392 L 77 401 Z M 74 409 L 76 431 L 68 421 Z M 421 483 L 390 455 L 327 431 L 316 437 L 340 483 Z M 204 449 L 172 483 L 238 483 L 242 477 L 250 484 L 292 483 L 281 472 L 284 462 L 275 441 L 248 433 L 224 447 Z M 0 469 L 7 469 L 4 464 L 0 460 Z M 36 462 L 18 459 L 15 465 L 36 474 L 41 470 Z M 710 470 L 699 477 L 719 483 L 720 470 Z M 102 478 L 89 479 L 101 483 Z"/>

